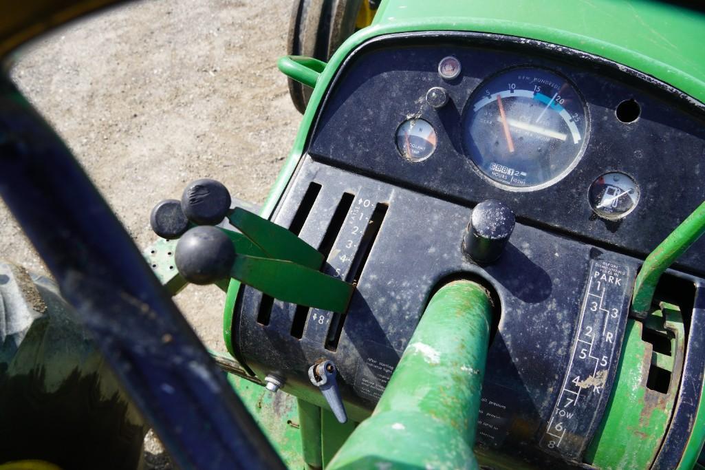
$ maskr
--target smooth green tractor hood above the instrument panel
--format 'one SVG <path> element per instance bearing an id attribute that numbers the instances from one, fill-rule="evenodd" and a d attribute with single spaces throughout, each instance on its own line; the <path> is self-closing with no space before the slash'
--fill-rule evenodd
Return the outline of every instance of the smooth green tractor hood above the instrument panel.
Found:
<path id="1" fill-rule="evenodd" d="M 388 0 L 372 25 L 560 44 L 630 66 L 705 102 L 705 15 L 665 1 Z"/>

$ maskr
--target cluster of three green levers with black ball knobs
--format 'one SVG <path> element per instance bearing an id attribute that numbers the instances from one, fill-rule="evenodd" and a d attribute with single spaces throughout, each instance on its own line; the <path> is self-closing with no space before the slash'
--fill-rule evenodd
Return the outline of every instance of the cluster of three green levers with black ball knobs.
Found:
<path id="1" fill-rule="evenodd" d="M 284 227 L 240 207 L 231 210 L 222 183 L 194 181 L 183 193 L 180 211 L 174 203 L 163 201 L 155 207 L 152 228 L 157 234 L 180 237 L 175 261 L 186 281 L 213 284 L 232 277 L 282 301 L 338 313 L 347 310 L 353 284 L 320 272 L 324 256 Z M 171 220 L 174 214 L 177 221 Z M 241 233 L 212 227 L 226 217 Z"/>

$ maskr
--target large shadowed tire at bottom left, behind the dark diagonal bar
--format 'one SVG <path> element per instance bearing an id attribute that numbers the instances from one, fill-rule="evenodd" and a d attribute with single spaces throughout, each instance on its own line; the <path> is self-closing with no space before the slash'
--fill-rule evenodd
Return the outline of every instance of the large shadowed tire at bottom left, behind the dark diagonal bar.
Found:
<path id="1" fill-rule="evenodd" d="M 145 423 L 56 284 L 0 262 L 0 463 L 142 468 Z"/>

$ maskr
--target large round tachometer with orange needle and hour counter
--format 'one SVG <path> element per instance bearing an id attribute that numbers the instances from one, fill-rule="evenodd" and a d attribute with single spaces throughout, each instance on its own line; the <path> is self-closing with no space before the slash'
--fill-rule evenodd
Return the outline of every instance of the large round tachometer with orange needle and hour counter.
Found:
<path id="1" fill-rule="evenodd" d="M 490 179 L 537 189 L 575 167 L 586 131 L 584 102 L 568 80 L 540 68 L 513 68 L 470 97 L 463 139 Z"/>

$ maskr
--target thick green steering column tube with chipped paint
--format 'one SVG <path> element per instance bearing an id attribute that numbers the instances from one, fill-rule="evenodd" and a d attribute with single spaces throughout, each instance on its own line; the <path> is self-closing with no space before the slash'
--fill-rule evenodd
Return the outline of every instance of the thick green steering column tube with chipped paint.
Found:
<path id="1" fill-rule="evenodd" d="M 439 289 L 374 413 L 329 468 L 478 468 L 472 447 L 491 322 L 484 287 Z"/>

